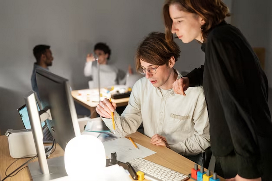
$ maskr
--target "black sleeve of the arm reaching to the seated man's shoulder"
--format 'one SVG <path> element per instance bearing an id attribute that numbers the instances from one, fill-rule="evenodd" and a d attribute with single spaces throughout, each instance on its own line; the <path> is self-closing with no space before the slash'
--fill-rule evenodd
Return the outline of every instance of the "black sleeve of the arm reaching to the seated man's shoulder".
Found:
<path id="1" fill-rule="evenodd" d="M 196 87 L 196 86 L 202 85 L 203 70 L 204 70 L 204 66 L 201 65 L 199 68 L 195 68 L 192 72 L 184 76 L 189 78 L 190 87 Z"/>

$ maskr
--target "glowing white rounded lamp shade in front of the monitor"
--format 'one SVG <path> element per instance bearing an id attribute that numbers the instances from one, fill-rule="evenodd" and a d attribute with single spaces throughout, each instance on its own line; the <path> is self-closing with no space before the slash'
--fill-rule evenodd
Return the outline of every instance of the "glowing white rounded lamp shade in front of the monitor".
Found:
<path id="1" fill-rule="evenodd" d="M 68 176 L 76 180 L 95 180 L 106 167 L 103 143 L 92 135 L 71 139 L 64 152 L 64 165 Z"/>

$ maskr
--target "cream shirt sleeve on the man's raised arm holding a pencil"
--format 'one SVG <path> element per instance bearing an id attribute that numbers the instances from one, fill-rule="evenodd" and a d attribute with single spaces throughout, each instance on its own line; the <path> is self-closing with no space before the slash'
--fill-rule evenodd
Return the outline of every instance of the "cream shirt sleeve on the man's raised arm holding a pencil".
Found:
<path id="1" fill-rule="evenodd" d="M 119 116 L 116 111 L 114 112 L 115 131 L 122 137 L 135 133 L 142 123 L 139 91 L 139 84 L 135 84 L 130 94 L 128 105 L 122 115 Z M 101 119 L 113 132 L 112 119 L 102 117 Z"/>

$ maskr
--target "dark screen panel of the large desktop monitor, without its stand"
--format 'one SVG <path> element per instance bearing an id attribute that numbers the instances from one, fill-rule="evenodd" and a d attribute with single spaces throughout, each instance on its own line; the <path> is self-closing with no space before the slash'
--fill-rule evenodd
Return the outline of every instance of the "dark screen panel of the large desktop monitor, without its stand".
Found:
<path id="1" fill-rule="evenodd" d="M 47 70 L 36 69 L 36 79 L 40 102 L 43 109 L 49 108 L 52 120 L 47 126 L 63 150 L 66 144 L 80 135 L 75 105 L 68 80 Z"/>

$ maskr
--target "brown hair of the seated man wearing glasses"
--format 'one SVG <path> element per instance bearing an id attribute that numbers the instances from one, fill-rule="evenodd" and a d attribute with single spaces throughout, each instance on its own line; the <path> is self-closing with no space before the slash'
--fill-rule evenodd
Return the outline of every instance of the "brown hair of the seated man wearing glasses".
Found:
<path id="1" fill-rule="evenodd" d="M 167 43 L 165 34 L 152 32 L 140 43 L 136 52 L 136 70 L 141 68 L 140 59 L 152 65 L 164 65 L 171 57 L 177 61 L 179 57 L 179 46 L 177 43 Z"/>

